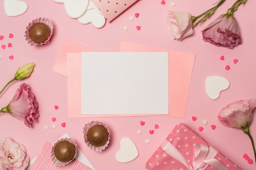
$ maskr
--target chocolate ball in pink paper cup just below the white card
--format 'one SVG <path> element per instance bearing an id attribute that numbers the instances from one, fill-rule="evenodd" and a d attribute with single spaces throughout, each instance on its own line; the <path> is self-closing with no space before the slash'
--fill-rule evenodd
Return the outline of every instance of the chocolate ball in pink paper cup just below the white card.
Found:
<path id="1" fill-rule="evenodd" d="M 94 125 L 88 130 L 87 139 L 93 146 L 102 146 L 108 140 L 108 130 L 101 125 Z"/>

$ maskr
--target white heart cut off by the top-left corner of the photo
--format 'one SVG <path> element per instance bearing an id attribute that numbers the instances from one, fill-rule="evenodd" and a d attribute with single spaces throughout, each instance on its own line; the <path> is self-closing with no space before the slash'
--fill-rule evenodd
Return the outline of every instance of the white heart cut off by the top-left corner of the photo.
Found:
<path id="1" fill-rule="evenodd" d="M 27 3 L 18 0 L 4 0 L 4 11 L 7 16 L 14 17 L 27 11 Z"/>

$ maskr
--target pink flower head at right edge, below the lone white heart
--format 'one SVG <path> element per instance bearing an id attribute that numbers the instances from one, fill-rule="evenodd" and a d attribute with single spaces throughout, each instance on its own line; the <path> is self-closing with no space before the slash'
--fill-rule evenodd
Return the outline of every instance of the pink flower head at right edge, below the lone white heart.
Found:
<path id="1" fill-rule="evenodd" d="M 222 108 L 218 119 L 226 126 L 245 129 L 252 121 L 252 110 L 255 107 L 256 99 L 238 100 Z"/>

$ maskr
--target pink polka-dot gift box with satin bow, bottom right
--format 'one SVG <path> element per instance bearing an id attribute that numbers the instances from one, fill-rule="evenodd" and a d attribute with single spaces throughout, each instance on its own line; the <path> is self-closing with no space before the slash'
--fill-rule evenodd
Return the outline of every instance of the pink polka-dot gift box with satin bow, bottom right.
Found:
<path id="1" fill-rule="evenodd" d="M 185 124 L 177 124 L 146 162 L 149 170 L 241 170 Z"/>

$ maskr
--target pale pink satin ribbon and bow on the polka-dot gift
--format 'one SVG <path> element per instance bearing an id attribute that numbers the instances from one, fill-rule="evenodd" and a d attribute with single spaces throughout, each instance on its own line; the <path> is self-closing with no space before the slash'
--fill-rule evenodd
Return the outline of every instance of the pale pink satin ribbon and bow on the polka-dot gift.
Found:
<path id="1" fill-rule="evenodd" d="M 208 165 L 212 166 L 215 170 L 229 170 L 219 160 L 214 159 L 218 151 L 211 146 L 204 144 L 196 144 L 193 150 L 192 166 L 186 158 L 180 153 L 175 146 L 173 146 L 166 139 L 161 145 L 161 148 L 168 153 L 171 157 L 182 163 L 188 170 L 205 170 Z"/>

